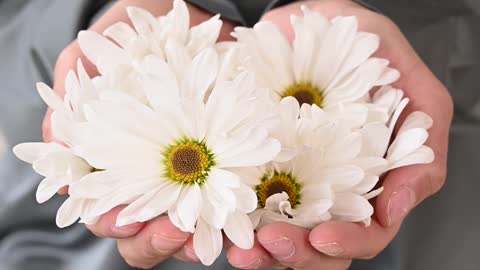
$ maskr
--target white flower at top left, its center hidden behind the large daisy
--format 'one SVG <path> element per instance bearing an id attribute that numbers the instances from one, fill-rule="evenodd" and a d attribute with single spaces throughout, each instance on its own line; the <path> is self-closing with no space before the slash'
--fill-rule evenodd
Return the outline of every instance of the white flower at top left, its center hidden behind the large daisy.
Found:
<path id="1" fill-rule="evenodd" d="M 144 101 L 138 65 L 151 54 L 166 59 L 179 72 L 184 60 L 214 46 L 222 21 L 219 16 L 190 28 L 190 15 L 182 0 L 175 0 L 166 15 L 155 17 L 138 7 L 127 8 L 133 28 L 118 22 L 104 32 L 114 42 L 93 31 L 78 35 L 80 48 L 102 76 L 95 83 L 102 90 L 121 90 Z"/>

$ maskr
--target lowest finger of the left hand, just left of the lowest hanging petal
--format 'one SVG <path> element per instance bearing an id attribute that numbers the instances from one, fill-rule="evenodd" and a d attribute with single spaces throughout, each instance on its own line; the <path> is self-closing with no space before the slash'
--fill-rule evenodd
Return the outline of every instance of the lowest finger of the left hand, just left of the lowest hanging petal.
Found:
<path id="1" fill-rule="evenodd" d="M 118 250 L 129 265 L 148 269 L 175 254 L 190 236 L 162 216 L 148 222 L 137 235 L 118 240 Z"/>

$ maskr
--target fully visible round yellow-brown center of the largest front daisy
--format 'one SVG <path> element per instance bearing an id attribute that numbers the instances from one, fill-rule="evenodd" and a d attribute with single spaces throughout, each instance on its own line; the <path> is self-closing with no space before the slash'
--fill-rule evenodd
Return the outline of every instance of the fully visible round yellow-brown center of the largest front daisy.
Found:
<path id="1" fill-rule="evenodd" d="M 183 139 L 163 153 L 165 177 L 180 184 L 203 184 L 215 165 L 213 153 L 204 142 Z"/>

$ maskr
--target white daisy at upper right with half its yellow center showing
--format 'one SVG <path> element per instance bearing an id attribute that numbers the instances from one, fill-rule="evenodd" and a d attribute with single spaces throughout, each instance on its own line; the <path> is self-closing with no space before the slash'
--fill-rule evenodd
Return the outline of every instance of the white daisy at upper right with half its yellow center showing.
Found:
<path id="1" fill-rule="evenodd" d="M 271 22 L 235 29 L 233 35 L 248 56 L 244 68 L 257 74 L 261 87 L 273 91 L 278 99 L 293 96 L 300 105 L 331 110 L 339 104 L 361 103 L 374 86 L 398 79 L 398 71 L 388 67 L 388 60 L 372 57 L 379 38 L 357 32 L 356 17 L 329 21 L 306 7 L 302 10 L 303 17 L 292 17 L 293 46 Z"/>

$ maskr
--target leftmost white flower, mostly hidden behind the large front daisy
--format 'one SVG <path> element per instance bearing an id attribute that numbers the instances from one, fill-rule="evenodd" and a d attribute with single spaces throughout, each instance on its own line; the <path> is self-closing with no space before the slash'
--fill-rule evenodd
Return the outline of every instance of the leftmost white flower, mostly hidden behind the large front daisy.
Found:
<path id="1" fill-rule="evenodd" d="M 37 85 L 38 92 L 52 109 L 51 129 L 57 143 L 23 143 L 15 146 L 15 155 L 33 165 L 33 169 L 45 179 L 37 189 L 37 201 L 44 203 L 62 187 L 78 181 L 95 169 L 71 150 L 72 128 L 76 123 L 84 122 L 83 105 L 97 97 L 93 83 L 80 61 L 77 64 L 78 78 L 73 71 L 67 75 L 65 97 L 62 100 L 45 84 Z M 93 200 L 68 198 L 57 212 L 57 225 L 66 227 L 78 218 L 86 215 L 93 206 Z M 89 217 L 83 222 L 95 222 L 97 217 Z"/>

